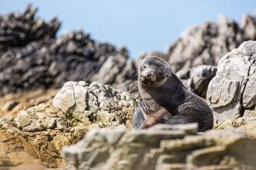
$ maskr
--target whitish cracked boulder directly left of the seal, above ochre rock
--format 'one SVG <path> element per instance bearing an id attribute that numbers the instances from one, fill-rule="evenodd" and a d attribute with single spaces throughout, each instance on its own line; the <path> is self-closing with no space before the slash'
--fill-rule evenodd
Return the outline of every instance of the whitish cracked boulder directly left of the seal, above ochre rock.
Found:
<path id="1" fill-rule="evenodd" d="M 137 102 L 127 92 L 98 82 L 66 82 L 57 93 L 52 105 L 72 114 L 78 120 L 90 119 L 99 127 L 113 127 L 131 120 Z"/>

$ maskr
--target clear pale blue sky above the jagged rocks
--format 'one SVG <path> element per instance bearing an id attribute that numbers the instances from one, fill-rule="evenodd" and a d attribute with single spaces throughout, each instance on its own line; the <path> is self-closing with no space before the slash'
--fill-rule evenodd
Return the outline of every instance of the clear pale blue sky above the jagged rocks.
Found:
<path id="1" fill-rule="evenodd" d="M 256 10 L 255 0 L 6 0 L 0 1 L 0 14 L 23 11 L 31 2 L 43 19 L 56 15 L 61 20 L 58 35 L 82 28 L 100 42 L 125 45 L 133 58 L 141 52 L 163 51 L 186 27 L 216 21 L 219 13 L 239 21 L 244 13 L 253 15 Z"/>

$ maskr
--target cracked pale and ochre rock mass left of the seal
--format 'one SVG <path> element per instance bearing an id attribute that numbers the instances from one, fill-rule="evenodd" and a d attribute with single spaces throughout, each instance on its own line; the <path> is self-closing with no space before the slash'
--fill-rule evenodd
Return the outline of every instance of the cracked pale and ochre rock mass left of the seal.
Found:
<path id="1" fill-rule="evenodd" d="M 128 93 L 97 82 L 67 82 L 53 103 L 60 108 L 40 104 L 16 118 L 1 118 L 0 154 L 25 151 L 56 167 L 61 148 L 76 143 L 91 128 L 131 129 L 137 107 Z"/>

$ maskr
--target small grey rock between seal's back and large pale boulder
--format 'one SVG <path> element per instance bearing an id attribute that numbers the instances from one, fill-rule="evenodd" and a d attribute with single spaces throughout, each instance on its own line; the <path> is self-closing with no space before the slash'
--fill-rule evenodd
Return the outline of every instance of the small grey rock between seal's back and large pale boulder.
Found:
<path id="1" fill-rule="evenodd" d="M 187 89 L 200 97 L 205 97 L 208 84 L 216 72 L 217 66 L 200 65 L 189 70 L 180 70 L 176 74 Z"/>

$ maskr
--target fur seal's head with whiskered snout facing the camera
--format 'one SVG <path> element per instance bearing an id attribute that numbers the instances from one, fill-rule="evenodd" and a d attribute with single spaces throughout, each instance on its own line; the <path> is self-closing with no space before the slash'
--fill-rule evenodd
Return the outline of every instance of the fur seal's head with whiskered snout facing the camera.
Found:
<path id="1" fill-rule="evenodd" d="M 170 65 L 161 58 L 150 56 L 143 61 L 138 70 L 138 80 L 146 86 L 159 86 L 171 77 Z"/>

